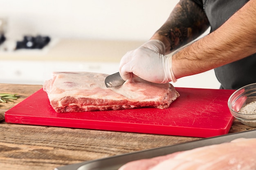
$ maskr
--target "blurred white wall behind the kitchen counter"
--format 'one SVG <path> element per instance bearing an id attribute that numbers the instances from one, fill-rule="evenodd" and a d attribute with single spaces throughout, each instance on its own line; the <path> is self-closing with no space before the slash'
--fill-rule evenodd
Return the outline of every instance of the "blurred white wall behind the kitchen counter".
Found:
<path id="1" fill-rule="evenodd" d="M 179 0 L 0 0 L 9 38 L 148 40 Z"/>

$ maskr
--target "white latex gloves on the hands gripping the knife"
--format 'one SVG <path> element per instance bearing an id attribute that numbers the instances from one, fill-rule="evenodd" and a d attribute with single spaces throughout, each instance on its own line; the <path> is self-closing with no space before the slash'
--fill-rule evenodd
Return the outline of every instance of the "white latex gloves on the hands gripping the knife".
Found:
<path id="1" fill-rule="evenodd" d="M 122 57 L 119 65 L 121 77 L 127 80 L 134 74 L 153 83 L 176 82 L 171 68 L 172 56 L 162 55 L 164 52 L 164 43 L 159 40 L 150 40 L 129 51 Z"/>

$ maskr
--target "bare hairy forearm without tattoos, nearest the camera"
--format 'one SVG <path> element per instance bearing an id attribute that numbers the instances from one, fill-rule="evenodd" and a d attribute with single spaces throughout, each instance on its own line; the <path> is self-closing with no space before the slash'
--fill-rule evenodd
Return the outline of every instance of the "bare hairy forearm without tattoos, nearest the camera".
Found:
<path id="1" fill-rule="evenodd" d="M 256 0 L 250 0 L 219 29 L 173 55 L 176 78 L 202 73 L 256 53 Z"/>

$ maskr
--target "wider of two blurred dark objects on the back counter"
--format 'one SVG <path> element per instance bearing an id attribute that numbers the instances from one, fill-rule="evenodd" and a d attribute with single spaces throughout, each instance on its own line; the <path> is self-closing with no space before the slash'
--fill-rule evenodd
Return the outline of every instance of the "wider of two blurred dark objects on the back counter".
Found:
<path id="1" fill-rule="evenodd" d="M 37 35 L 35 37 L 25 35 L 22 41 L 16 43 L 16 50 L 18 49 L 43 49 L 50 42 L 48 36 Z"/>

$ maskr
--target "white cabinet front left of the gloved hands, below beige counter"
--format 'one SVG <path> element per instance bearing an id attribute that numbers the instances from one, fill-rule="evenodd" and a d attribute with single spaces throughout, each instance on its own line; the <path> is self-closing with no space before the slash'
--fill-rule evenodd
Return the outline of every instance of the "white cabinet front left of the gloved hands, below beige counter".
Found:
<path id="1" fill-rule="evenodd" d="M 0 83 L 43 84 L 54 71 L 89 71 L 112 74 L 115 62 L 0 61 Z"/>

